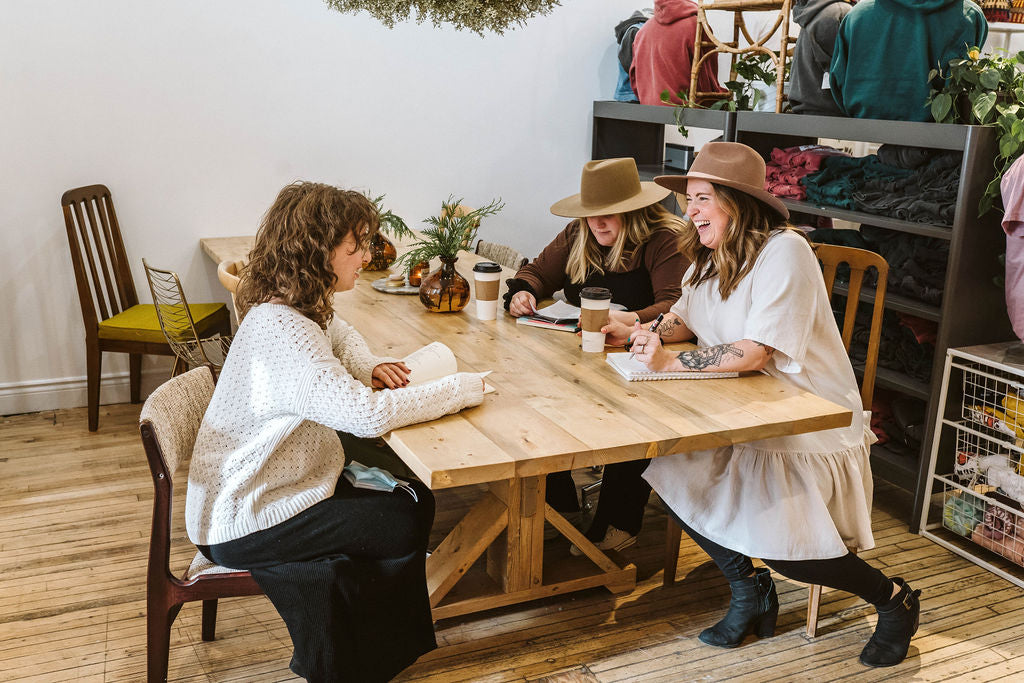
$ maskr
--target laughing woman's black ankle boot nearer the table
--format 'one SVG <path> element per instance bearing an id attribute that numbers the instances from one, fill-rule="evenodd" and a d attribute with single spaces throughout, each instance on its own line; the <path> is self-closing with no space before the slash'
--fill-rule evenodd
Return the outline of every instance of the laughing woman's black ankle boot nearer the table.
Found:
<path id="1" fill-rule="evenodd" d="M 730 581 L 729 588 L 729 611 L 721 622 L 701 631 L 700 640 L 715 647 L 736 647 L 752 631 L 758 638 L 774 636 L 778 594 L 771 572 L 761 567 L 753 577 Z"/>

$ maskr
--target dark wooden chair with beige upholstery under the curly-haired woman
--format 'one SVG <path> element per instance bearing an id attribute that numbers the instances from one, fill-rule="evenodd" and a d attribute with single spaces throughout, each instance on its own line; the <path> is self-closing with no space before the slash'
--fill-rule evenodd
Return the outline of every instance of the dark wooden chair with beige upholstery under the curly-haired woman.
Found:
<path id="1" fill-rule="evenodd" d="M 197 553 L 178 579 L 171 572 L 171 502 L 173 479 L 196 444 L 203 414 L 213 396 L 213 373 L 196 368 L 173 377 L 146 399 L 139 416 L 139 433 L 153 475 L 153 526 L 146 571 L 146 678 L 167 680 L 171 625 L 185 602 L 203 601 L 203 640 L 213 640 L 217 599 L 261 595 L 248 571 L 218 566 Z"/>

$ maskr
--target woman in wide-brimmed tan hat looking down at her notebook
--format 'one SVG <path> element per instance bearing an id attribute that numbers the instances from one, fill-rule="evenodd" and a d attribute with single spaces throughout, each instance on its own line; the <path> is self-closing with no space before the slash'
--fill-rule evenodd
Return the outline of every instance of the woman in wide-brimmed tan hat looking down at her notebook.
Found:
<path id="1" fill-rule="evenodd" d="M 687 262 L 679 253 L 682 220 L 660 204 L 669 190 L 641 182 L 632 159 L 587 162 L 580 194 L 556 202 L 551 213 L 573 220 L 532 263 L 508 281 L 505 307 L 528 315 L 537 302 L 561 290 L 580 305 L 585 287 L 606 287 L 613 319 L 646 323 L 679 298 Z M 601 496 L 587 538 L 604 549 L 622 550 L 636 542 L 650 485 L 641 478 L 647 461 L 606 465 Z M 559 512 L 577 512 L 580 503 L 568 472 L 548 476 L 547 502 Z"/>

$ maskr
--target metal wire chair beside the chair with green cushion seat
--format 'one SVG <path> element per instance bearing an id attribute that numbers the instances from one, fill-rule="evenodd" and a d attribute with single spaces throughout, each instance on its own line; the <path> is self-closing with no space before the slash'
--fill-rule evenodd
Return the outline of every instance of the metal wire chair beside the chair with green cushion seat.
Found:
<path id="1" fill-rule="evenodd" d="M 227 357 L 227 349 L 231 345 L 230 335 L 201 339 L 178 273 L 154 268 L 144 258 L 142 267 L 145 268 L 145 279 L 150 282 L 160 329 L 177 356 L 171 377 L 198 366 L 207 366 L 216 374 Z"/>

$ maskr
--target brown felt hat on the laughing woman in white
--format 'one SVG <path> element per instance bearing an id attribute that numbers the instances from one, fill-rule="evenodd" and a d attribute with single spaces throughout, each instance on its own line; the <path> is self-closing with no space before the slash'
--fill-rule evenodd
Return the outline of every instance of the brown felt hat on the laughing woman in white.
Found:
<path id="1" fill-rule="evenodd" d="M 697 154 L 686 175 L 659 175 L 654 182 L 675 193 L 686 191 L 686 181 L 707 180 L 761 200 L 782 218 L 790 210 L 781 200 L 765 189 L 765 160 L 740 142 L 709 142 Z"/>

